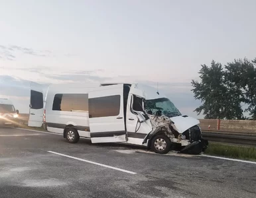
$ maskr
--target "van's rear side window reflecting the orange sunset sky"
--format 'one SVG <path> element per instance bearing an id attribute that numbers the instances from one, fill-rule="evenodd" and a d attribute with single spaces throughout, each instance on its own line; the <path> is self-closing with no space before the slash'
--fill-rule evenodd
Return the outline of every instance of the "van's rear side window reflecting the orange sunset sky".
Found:
<path id="1" fill-rule="evenodd" d="M 88 94 L 56 94 L 52 110 L 65 112 L 88 111 Z"/>

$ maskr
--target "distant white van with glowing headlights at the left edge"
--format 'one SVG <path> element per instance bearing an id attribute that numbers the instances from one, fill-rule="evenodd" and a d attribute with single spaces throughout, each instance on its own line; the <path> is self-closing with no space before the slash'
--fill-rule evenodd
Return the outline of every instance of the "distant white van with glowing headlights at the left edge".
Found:
<path id="1" fill-rule="evenodd" d="M 13 102 L 7 98 L 0 98 L 0 126 L 19 124 L 19 110 L 15 110 Z"/>

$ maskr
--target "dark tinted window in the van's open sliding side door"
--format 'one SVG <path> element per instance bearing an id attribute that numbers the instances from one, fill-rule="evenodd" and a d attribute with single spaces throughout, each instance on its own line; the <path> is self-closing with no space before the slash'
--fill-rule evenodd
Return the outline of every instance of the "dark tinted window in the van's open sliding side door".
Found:
<path id="1" fill-rule="evenodd" d="M 121 96 L 105 96 L 89 99 L 90 117 L 118 116 Z"/>

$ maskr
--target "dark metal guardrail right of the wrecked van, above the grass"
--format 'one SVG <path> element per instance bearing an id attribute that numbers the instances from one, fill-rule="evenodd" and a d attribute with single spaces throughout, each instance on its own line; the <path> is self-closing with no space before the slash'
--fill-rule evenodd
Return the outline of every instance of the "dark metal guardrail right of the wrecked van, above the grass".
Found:
<path id="1" fill-rule="evenodd" d="M 208 141 L 256 146 L 255 133 L 238 133 L 230 131 L 202 131 L 202 135 L 204 139 L 207 139 Z"/>

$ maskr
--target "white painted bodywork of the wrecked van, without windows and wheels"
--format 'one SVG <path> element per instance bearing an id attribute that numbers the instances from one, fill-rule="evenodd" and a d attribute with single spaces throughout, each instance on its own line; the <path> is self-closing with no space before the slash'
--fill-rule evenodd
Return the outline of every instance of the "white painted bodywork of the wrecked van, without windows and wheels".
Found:
<path id="1" fill-rule="evenodd" d="M 157 98 L 167 98 L 157 88 L 144 84 L 133 83 L 130 86 L 127 96 L 126 114 L 124 112 L 124 84 L 114 84 L 101 86 L 100 84 L 58 84 L 50 85 L 44 94 L 42 87 L 38 84 L 31 84 L 31 90 L 42 92 L 44 99 L 44 108 L 33 109 L 29 117 L 29 125 L 40 127 L 42 125 L 43 110 L 45 110 L 45 121 L 48 131 L 54 133 L 64 133 L 65 127 L 71 125 L 75 127 L 81 137 L 89 137 L 92 143 L 122 142 L 133 145 L 147 146 L 149 141 L 143 143 L 143 139 L 153 131 L 150 119 L 138 123 L 137 114 L 133 110 L 133 97 L 137 96 L 143 100 L 153 100 Z M 65 111 L 54 110 L 54 97 L 56 94 L 88 94 L 88 110 L 86 111 Z M 120 96 L 119 114 L 115 116 L 90 117 L 90 99 Z M 144 108 L 144 107 L 143 107 Z M 188 116 L 176 116 L 170 118 L 178 131 L 183 133 L 190 127 L 198 125 L 200 121 Z M 110 136 L 108 136 L 110 135 Z M 172 138 L 173 141 L 181 145 L 187 145 L 188 141 Z"/>

